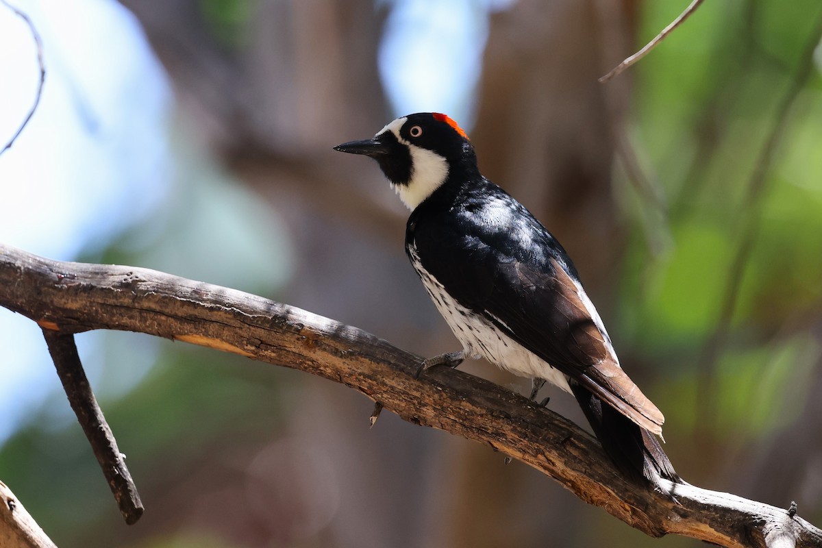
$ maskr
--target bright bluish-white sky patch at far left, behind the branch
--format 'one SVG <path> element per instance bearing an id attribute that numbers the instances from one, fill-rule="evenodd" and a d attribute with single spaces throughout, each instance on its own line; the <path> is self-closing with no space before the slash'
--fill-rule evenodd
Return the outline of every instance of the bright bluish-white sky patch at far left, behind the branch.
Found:
<path id="1" fill-rule="evenodd" d="M 35 22 L 47 73 L 35 116 L 0 155 L 0 241 L 70 260 L 103 246 L 162 200 L 172 96 L 139 26 L 118 2 L 15 6 Z M 3 6 L 0 44 L 5 145 L 32 104 L 39 67 L 27 25 Z M 89 339 L 78 338 L 81 353 Z M 2 440 L 59 383 L 37 326 L 3 308 L 0 348 Z M 94 380 L 95 360 L 86 364 Z"/>

